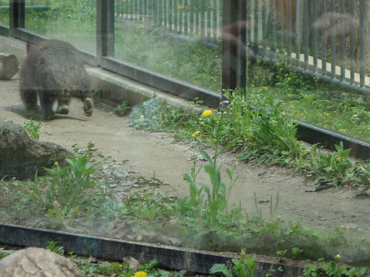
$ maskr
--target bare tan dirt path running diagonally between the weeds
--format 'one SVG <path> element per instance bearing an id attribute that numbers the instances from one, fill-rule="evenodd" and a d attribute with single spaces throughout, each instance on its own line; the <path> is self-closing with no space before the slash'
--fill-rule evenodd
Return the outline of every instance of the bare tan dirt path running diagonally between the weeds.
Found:
<path id="1" fill-rule="evenodd" d="M 9 81 L 0 81 L 0 118 L 23 124 L 30 116 L 20 101 L 18 82 L 18 75 Z M 139 172 L 139 176 L 150 179 L 155 175 L 167 182 L 169 185 L 162 185 L 161 189 L 168 195 L 188 195 L 188 185 L 182 175 L 192 167 L 188 157 L 197 153 L 196 146 L 175 143 L 166 133 L 135 130 L 128 127 L 126 117 L 118 117 L 106 109 L 95 108 L 92 117 L 84 119 L 82 106 L 81 102 L 73 100 L 70 114 L 57 115 L 57 119 L 43 122 L 40 140 L 64 147 L 78 143 L 81 148 L 94 141 L 95 147 L 105 156 L 111 155 L 117 161 L 128 160 L 128 167 Z M 224 181 L 226 168 L 231 169 L 237 161 L 231 153 L 220 156 Z M 205 165 L 205 162 L 198 164 Z M 235 175 L 239 178 L 231 191 L 230 203 L 241 205 L 247 213 L 261 212 L 265 220 L 276 216 L 281 216 L 285 222 L 297 220 L 320 232 L 331 232 L 334 226 L 340 226 L 352 237 L 370 240 L 370 202 L 368 198 L 356 197 L 353 189 L 305 192 L 312 189 L 305 175 L 273 165 L 255 167 L 239 163 Z M 204 172 L 198 175 L 198 181 L 209 184 Z M 277 194 L 279 200 L 275 209 Z M 272 203 L 256 204 L 269 201 L 271 197 Z"/>

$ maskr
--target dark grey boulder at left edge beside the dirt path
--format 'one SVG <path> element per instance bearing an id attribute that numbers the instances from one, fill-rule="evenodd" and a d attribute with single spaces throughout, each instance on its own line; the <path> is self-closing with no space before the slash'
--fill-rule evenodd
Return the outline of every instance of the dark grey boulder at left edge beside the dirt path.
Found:
<path id="1" fill-rule="evenodd" d="M 51 168 L 55 162 L 64 167 L 65 158 L 73 154 L 58 144 L 34 140 L 21 125 L 0 119 L 0 180 L 30 179 L 36 171 L 44 175 L 43 167 Z"/>

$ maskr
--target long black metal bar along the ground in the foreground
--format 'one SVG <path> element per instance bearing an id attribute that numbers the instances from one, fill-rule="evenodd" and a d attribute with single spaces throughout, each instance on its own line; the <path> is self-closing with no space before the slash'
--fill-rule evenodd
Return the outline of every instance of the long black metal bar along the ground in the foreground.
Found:
<path id="1" fill-rule="evenodd" d="M 122 261 L 122 257 L 133 257 L 141 263 L 149 263 L 157 259 L 159 266 L 170 269 L 188 270 L 209 274 L 214 264 L 230 264 L 232 255 L 221 256 L 220 253 L 207 252 L 196 249 L 179 249 L 173 246 L 158 246 L 141 244 L 127 240 L 107 239 L 96 236 L 76 235 L 65 232 L 27 228 L 0 224 L 0 242 L 19 246 L 47 247 L 47 242 L 57 242 L 63 246 L 65 252 L 92 256 L 108 260 Z M 277 276 L 302 276 L 303 268 L 283 264 L 257 263 L 256 277 L 265 277 L 270 274 Z"/>

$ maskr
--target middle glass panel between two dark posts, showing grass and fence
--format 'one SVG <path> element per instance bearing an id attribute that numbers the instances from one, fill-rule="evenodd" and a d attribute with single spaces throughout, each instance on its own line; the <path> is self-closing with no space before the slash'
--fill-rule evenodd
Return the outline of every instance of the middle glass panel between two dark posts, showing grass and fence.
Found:
<path id="1" fill-rule="evenodd" d="M 115 3 L 115 58 L 221 91 L 222 1 Z"/>

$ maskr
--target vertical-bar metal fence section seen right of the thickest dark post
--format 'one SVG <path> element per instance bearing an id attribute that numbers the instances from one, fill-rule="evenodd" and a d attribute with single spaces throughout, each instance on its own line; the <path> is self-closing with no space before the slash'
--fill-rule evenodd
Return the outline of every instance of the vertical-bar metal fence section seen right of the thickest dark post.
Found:
<path id="1" fill-rule="evenodd" d="M 270 51 L 266 56 L 276 58 L 276 52 L 280 51 L 287 64 L 368 87 L 365 71 L 370 70 L 365 66 L 364 31 L 365 10 L 367 8 L 368 13 L 369 6 L 364 0 L 262 3 L 255 0 L 248 3 L 247 40 L 261 44 L 265 53 Z M 257 48 L 254 51 L 259 52 Z"/>

